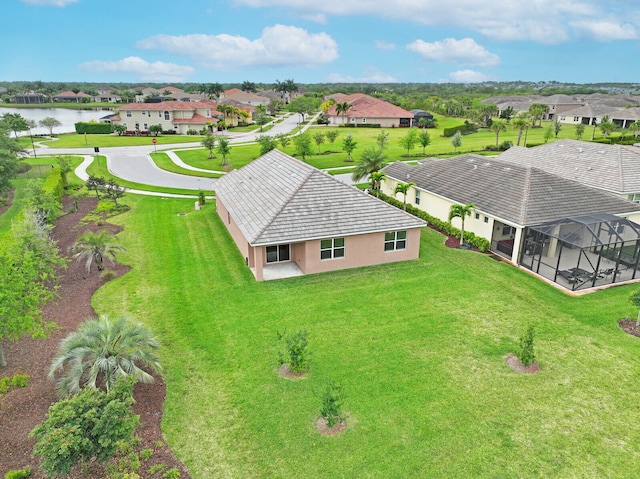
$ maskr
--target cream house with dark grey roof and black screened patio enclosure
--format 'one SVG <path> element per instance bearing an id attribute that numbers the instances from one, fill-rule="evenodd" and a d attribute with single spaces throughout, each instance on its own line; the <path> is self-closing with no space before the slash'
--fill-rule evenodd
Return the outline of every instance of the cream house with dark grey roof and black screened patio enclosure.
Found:
<path id="1" fill-rule="evenodd" d="M 385 194 L 394 196 L 399 182 L 413 182 L 407 203 L 442 221 L 452 205 L 474 204 L 466 231 L 489 240 L 494 253 L 564 288 L 640 278 L 636 203 L 540 168 L 477 155 L 397 162 L 384 171 Z M 453 224 L 459 228 L 460 219 Z"/>

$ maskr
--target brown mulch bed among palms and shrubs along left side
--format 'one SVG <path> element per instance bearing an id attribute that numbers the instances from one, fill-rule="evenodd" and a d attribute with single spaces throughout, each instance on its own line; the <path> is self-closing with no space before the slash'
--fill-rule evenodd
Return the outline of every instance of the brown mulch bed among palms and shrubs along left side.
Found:
<path id="1" fill-rule="evenodd" d="M 70 204 L 71 200 L 65 198 L 65 211 L 69 209 Z M 92 223 L 80 226 L 80 220 L 92 211 L 96 204 L 94 198 L 80 200 L 77 212 L 67 213 L 56 221 L 53 237 L 61 254 L 68 256 L 69 247 L 77 236 L 85 231 L 107 229 L 117 233 L 120 230 L 120 227 L 108 223 L 102 226 Z M 124 265 L 106 263 L 105 266 L 113 270 L 117 276 L 129 271 L 129 267 Z M 54 384 L 47 379 L 47 372 L 58 343 L 74 331 L 79 323 L 96 316 L 91 307 L 91 297 L 104 282 L 95 271 L 95 266 L 93 271 L 87 274 L 84 261 L 71 260 L 68 267 L 61 271 L 58 300 L 47 304 L 43 309 L 43 318 L 55 322 L 58 329 L 46 340 L 24 338 L 16 342 L 2 342 L 8 366 L 0 370 L 0 377 L 28 374 L 30 379 L 27 387 L 12 388 L 9 393 L 0 397 L 0 473 L 30 466 L 30 477 L 46 477 L 37 467 L 38 459 L 31 454 L 35 440 L 28 434 L 45 419 L 49 406 L 57 400 Z M 166 385 L 162 378 L 156 378 L 153 384 L 137 384 L 134 389 L 134 410 L 140 415 L 140 427 L 136 431 L 140 438 L 138 449 L 154 451 L 150 459 L 141 461 L 142 467 L 138 474 L 142 478 L 162 477 L 162 472 L 153 476 L 148 473 L 152 465 L 158 464 L 166 465 L 165 471 L 178 469 L 181 478 L 190 477 L 184 465 L 164 442 L 160 430 L 165 394 Z M 74 468 L 67 477 L 98 479 L 104 478 L 105 472 L 103 466 L 94 464 L 85 471 Z"/>

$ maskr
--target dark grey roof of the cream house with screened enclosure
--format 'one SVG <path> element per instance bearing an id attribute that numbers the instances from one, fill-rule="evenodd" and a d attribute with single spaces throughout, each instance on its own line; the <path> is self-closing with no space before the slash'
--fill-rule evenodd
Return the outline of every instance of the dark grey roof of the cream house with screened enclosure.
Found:
<path id="1" fill-rule="evenodd" d="M 594 213 L 626 214 L 640 206 L 538 168 L 477 155 L 392 163 L 389 178 L 519 226 Z"/>

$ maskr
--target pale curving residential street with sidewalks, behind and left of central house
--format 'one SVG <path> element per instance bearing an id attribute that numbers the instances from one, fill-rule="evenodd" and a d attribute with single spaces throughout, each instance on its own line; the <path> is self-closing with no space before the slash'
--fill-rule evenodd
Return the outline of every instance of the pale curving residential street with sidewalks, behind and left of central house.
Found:
<path id="1" fill-rule="evenodd" d="M 315 118 L 315 117 L 314 117 Z M 260 135 L 275 136 L 281 133 L 289 133 L 298 126 L 300 116 L 298 114 L 292 114 L 286 117 L 280 123 L 276 123 L 273 128 L 264 133 L 249 132 L 249 133 L 230 133 L 226 134 L 232 144 L 244 144 L 256 141 L 256 138 Z M 309 125 L 306 125 L 308 128 Z M 172 149 L 184 149 L 184 148 L 200 148 L 202 145 L 200 142 L 194 143 L 178 143 L 174 145 L 161 145 L 161 150 Z M 148 146 L 127 146 L 127 147 L 112 147 L 101 148 L 100 154 L 106 156 L 107 167 L 111 174 L 123 180 L 131 181 L 134 183 L 142 183 L 152 186 L 160 186 L 165 188 L 183 188 L 190 190 L 212 190 L 215 189 L 215 179 L 212 178 L 198 178 L 195 176 L 181 175 L 178 173 L 171 173 L 169 171 L 161 170 L 151 160 L 150 153 L 154 151 L 152 145 Z M 40 150 L 41 154 L 45 155 L 95 155 L 93 148 L 45 148 Z M 170 155 L 175 160 L 175 155 Z M 85 157 L 86 158 L 86 157 Z M 86 168 L 90 162 L 85 161 L 83 165 L 77 170 L 79 176 L 86 177 Z M 176 162 L 180 166 L 184 167 L 181 162 Z M 188 169 L 198 171 L 197 168 L 189 167 Z M 82 177 L 81 176 L 81 177 Z"/>

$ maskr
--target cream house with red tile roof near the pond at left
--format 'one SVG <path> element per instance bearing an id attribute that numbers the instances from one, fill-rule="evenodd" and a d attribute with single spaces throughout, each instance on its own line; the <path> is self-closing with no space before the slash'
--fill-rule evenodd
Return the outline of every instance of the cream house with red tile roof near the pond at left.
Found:
<path id="1" fill-rule="evenodd" d="M 216 103 L 210 100 L 129 103 L 120 107 L 120 118 L 111 122 L 124 125 L 128 131 L 148 131 L 151 125 L 162 125 L 163 131 L 184 135 L 191 129 L 199 131 L 215 125 L 218 114 Z"/>

